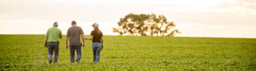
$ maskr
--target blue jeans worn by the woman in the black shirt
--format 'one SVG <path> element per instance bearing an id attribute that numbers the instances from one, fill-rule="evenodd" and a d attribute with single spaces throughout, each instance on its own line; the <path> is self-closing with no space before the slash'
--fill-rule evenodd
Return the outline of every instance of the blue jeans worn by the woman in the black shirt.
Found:
<path id="1" fill-rule="evenodd" d="M 92 42 L 92 51 L 93 51 L 93 61 L 100 61 L 100 51 L 101 51 L 101 43 L 100 42 Z"/>

